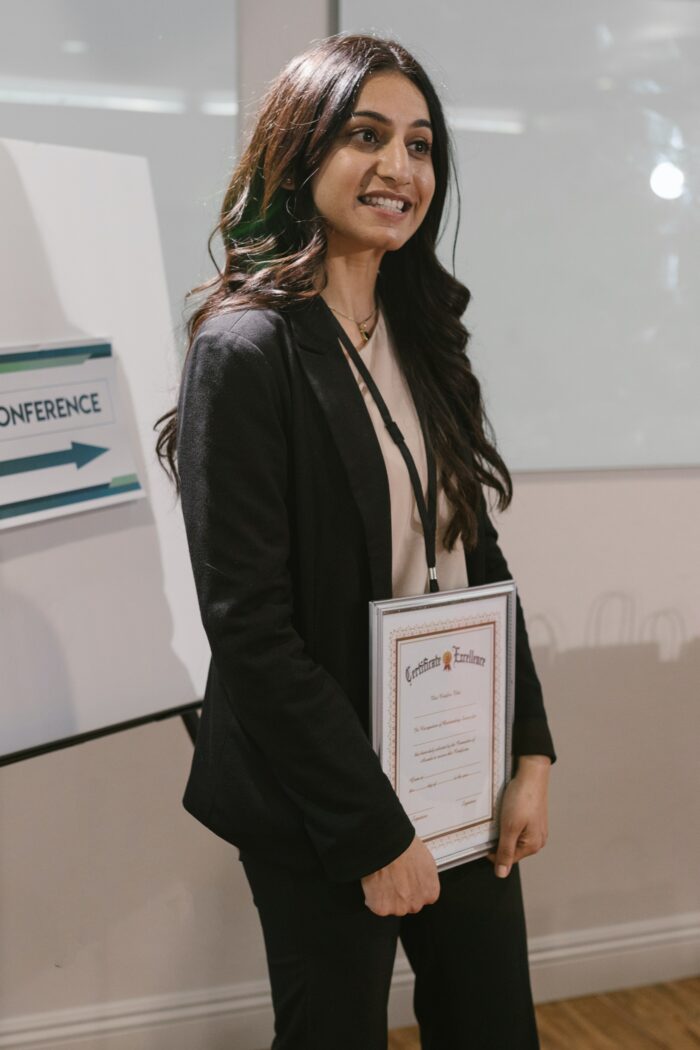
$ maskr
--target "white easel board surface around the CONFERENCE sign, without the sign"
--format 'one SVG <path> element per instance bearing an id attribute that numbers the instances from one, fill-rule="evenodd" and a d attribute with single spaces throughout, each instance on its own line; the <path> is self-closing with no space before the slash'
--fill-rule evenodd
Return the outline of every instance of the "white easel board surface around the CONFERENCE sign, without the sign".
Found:
<path id="1" fill-rule="evenodd" d="M 0 345 L 108 339 L 145 490 L 0 532 L 8 756 L 196 701 L 209 646 L 154 453 L 179 364 L 148 164 L 0 140 Z"/>

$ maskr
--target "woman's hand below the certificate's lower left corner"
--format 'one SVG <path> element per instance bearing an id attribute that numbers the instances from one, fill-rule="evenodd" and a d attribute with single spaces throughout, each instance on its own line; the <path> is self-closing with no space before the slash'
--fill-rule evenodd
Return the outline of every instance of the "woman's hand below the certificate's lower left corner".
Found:
<path id="1" fill-rule="evenodd" d="M 364 903 L 377 916 L 415 915 L 440 897 L 434 858 L 418 835 L 390 864 L 360 881 Z"/>

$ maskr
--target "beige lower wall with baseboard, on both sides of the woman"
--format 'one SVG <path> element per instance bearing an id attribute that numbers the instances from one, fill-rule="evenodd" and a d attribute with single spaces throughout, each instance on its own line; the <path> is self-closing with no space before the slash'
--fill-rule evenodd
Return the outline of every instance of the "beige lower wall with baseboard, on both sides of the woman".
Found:
<path id="1" fill-rule="evenodd" d="M 700 969 L 699 479 L 521 479 L 501 519 L 559 755 L 523 864 L 540 999 Z M 0 770 L 0 1047 L 264 1044 L 256 914 L 181 807 L 190 756 L 175 720 Z M 409 991 L 400 953 L 396 1023 Z"/>

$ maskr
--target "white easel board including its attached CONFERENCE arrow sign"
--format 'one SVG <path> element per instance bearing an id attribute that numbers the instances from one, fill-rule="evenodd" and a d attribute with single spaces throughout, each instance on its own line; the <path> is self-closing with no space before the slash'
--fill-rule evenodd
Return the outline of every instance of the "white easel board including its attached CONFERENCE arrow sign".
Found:
<path id="1" fill-rule="evenodd" d="M 0 757 L 12 757 L 191 704 L 210 653 L 155 457 L 182 365 L 148 163 L 0 139 Z"/>

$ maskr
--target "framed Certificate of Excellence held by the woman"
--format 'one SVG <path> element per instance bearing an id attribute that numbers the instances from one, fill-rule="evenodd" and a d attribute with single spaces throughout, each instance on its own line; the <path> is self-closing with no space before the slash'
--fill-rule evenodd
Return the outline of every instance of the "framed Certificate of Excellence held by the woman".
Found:
<path id="1" fill-rule="evenodd" d="M 511 776 L 513 581 L 369 603 L 372 742 L 438 869 L 490 853 Z"/>

